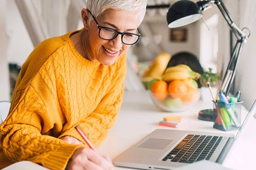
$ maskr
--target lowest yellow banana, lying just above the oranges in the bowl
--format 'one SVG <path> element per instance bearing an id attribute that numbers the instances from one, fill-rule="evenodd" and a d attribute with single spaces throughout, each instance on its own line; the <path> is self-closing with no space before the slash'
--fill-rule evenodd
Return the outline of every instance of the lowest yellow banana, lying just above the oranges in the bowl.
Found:
<path id="1" fill-rule="evenodd" d="M 194 71 L 174 71 L 162 75 L 162 80 L 170 82 L 172 80 L 183 80 L 188 78 L 195 79 L 195 77 L 198 76 L 200 76 L 200 74 Z"/>

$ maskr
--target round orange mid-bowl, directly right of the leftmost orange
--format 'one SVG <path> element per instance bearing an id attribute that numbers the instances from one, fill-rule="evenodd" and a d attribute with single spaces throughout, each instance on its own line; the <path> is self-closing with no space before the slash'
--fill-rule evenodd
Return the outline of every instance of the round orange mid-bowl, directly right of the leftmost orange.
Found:
<path id="1" fill-rule="evenodd" d="M 181 80 L 173 80 L 168 86 L 172 98 L 182 98 L 187 93 L 187 85 Z"/>

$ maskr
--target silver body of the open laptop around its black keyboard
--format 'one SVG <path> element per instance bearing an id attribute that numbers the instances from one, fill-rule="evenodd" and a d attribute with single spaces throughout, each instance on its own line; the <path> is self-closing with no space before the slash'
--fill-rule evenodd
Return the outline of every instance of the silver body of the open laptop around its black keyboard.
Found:
<path id="1" fill-rule="evenodd" d="M 188 165 L 188 163 L 173 162 L 171 159 L 165 159 L 167 156 L 172 155 L 173 149 L 182 149 L 184 140 L 188 135 L 206 135 L 206 136 L 220 136 L 221 140 L 218 143 L 215 151 L 211 155 L 209 161 L 222 163 L 226 154 L 228 153 L 232 143 L 237 138 L 242 127 L 248 120 L 251 114 L 255 113 L 256 100 L 247 114 L 245 121 L 243 121 L 237 135 L 223 133 L 205 133 L 193 132 L 187 130 L 171 130 L 171 129 L 156 129 L 146 137 L 141 139 L 135 145 L 122 152 L 120 155 L 113 159 L 116 166 L 131 167 L 139 169 L 171 169 Z M 216 137 L 219 139 L 219 137 Z M 170 153 L 171 152 L 171 153 Z M 165 161 L 164 161 L 165 160 Z"/>

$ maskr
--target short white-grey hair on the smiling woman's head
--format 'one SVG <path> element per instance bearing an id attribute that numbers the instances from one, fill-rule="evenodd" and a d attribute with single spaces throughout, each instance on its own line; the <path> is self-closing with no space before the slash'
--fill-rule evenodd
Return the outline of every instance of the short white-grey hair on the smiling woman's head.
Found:
<path id="1" fill-rule="evenodd" d="M 94 17 L 100 16 L 107 9 L 117 9 L 138 13 L 141 24 L 146 13 L 147 0 L 87 0 L 87 9 Z M 89 17 L 89 24 L 92 17 Z"/>

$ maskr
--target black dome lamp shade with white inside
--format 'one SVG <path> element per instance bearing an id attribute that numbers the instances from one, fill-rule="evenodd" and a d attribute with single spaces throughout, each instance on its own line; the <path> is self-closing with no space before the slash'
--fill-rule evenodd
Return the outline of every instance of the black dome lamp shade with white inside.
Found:
<path id="1" fill-rule="evenodd" d="M 202 17 L 202 11 L 195 3 L 187 0 L 178 1 L 174 3 L 167 12 L 168 27 L 182 27 Z"/>

